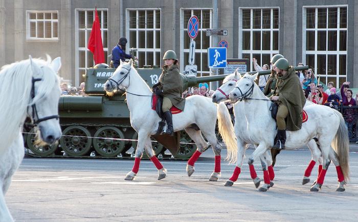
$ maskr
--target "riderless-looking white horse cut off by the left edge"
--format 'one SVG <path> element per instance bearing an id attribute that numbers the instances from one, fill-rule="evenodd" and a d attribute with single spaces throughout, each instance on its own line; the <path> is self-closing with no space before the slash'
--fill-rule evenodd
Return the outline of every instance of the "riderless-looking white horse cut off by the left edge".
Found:
<path id="1" fill-rule="evenodd" d="M 61 136 L 58 101 L 61 94 L 57 71 L 60 58 L 51 62 L 23 60 L 5 65 L 0 71 L 0 220 L 13 221 L 5 203 L 12 175 L 24 158 L 21 135 L 25 118 L 37 126 L 37 136 L 44 143 L 54 143 Z"/>

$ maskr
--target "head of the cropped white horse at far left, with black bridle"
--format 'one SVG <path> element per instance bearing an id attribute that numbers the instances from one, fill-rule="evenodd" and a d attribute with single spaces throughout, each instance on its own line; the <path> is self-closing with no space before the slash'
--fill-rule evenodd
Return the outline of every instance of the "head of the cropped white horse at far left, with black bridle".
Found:
<path id="1" fill-rule="evenodd" d="M 29 56 L 32 70 L 32 86 L 28 116 L 37 128 L 37 138 L 45 143 L 52 144 L 61 136 L 61 127 L 58 116 L 58 101 L 61 95 L 58 70 L 61 67 L 61 58 L 53 61 L 32 59 Z"/>

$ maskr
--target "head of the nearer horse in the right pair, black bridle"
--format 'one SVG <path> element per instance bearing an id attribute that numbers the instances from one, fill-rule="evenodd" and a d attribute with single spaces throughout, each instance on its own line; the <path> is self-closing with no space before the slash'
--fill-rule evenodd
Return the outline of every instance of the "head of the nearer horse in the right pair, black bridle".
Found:
<path id="1" fill-rule="evenodd" d="M 238 100 L 242 101 L 247 98 L 250 98 L 254 92 L 255 79 L 257 78 L 258 73 L 250 75 L 248 72 L 245 73 L 240 79 L 236 82 L 236 87 L 230 92 L 229 98 L 232 103 L 236 103 Z"/>

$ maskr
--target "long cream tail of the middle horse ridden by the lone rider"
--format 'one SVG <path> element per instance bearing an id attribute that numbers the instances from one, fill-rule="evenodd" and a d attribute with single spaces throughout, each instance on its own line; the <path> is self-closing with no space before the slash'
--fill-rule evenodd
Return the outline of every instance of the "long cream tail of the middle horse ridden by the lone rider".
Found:
<path id="1" fill-rule="evenodd" d="M 234 126 L 231 122 L 231 116 L 225 103 L 219 103 L 217 105 L 217 120 L 219 133 L 222 136 L 223 141 L 226 144 L 228 156 L 226 160 L 230 163 L 237 160 L 237 143 L 234 133 Z"/>

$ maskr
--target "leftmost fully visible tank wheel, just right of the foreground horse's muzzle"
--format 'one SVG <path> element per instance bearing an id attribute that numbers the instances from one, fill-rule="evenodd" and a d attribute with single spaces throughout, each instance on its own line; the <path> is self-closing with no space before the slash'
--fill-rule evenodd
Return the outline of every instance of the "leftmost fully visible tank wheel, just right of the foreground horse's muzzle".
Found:
<path id="1" fill-rule="evenodd" d="M 70 126 L 62 132 L 60 144 L 69 156 L 84 156 L 91 149 L 91 133 L 81 126 Z"/>

